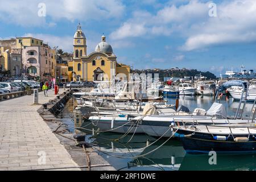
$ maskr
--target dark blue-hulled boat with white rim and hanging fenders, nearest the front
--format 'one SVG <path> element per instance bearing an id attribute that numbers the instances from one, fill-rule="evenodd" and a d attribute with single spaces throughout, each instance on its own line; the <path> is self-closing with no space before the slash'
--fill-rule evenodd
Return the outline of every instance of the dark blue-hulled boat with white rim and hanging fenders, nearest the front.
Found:
<path id="1" fill-rule="evenodd" d="M 256 152 L 256 127 L 250 125 L 198 125 L 174 127 L 185 151 L 197 152 Z"/>

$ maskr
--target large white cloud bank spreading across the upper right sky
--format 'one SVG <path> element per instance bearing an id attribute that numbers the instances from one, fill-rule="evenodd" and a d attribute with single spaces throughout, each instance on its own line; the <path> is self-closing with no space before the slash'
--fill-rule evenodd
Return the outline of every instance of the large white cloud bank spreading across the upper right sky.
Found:
<path id="1" fill-rule="evenodd" d="M 148 38 L 175 33 L 185 39 L 180 47 L 182 51 L 256 41 L 255 0 L 222 1 L 217 4 L 217 17 L 209 16 L 209 3 L 196 0 L 181 5 L 167 3 L 155 14 L 135 11 L 111 36 L 113 39 Z"/>

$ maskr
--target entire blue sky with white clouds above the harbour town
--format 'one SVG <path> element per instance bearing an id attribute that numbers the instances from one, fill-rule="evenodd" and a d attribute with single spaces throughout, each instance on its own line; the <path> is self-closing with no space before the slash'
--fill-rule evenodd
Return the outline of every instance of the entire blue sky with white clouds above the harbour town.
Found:
<path id="1" fill-rule="evenodd" d="M 32 36 L 73 51 L 81 23 L 88 55 L 101 41 L 134 69 L 256 70 L 255 0 L 0 0 L 0 40 Z"/>

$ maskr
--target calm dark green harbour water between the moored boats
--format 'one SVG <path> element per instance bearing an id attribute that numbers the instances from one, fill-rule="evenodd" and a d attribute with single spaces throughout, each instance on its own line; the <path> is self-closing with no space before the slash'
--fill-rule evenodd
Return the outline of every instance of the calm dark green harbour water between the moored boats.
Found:
<path id="1" fill-rule="evenodd" d="M 175 104 L 176 98 L 166 97 L 168 104 Z M 196 107 L 204 108 L 208 110 L 213 103 L 212 97 L 192 97 L 181 96 L 179 98 L 179 104 L 187 106 L 189 110 L 193 111 Z M 227 113 L 234 115 L 236 112 L 238 102 L 233 102 L 233 99 L 221 100 L 221 103 L 225 105 Z M 246 105 L 246 112 L 250 113 L 251 106 L 253 104 Z M 63 122 L 68 125 L 74 125 L 73 123 L 73 109 L 76 106 L 76 101 L 71 99 L 60 114 Z M 88 125 L 88 122 L 84 122 L 82 126 Z M 91 126 L 86 126 L 90 129 Z M 73 131 L 72 127 L 70 127 Z M 88 131 L 85 131 L 88 133 Z M 89 133 L 88 133 L 89 134 Z M 181 142 L 179 140 L 170 140 L 158 150 L 151 152 L 144 156 L 148 152 L 159 147 L 166 141 L 166 139 L 160 139 L 154 144 L 157 138 L 149 137 L 147 135 L 127 135 L 121 138 L 122 134 L 116 133 L 100 133 L 94 135 L 93 144 L 99 150 L 99 152 L 110 164 L 112 164 L 118 170 L 254 170 L 256 169 L 256 154 L 244 154 L 244 155 L 227 155 L 217 154 L 217 165 L 210 165 L 207 154 L 186 154 Z M 115 141 L 115 139 L 119 139 Z M 129 142 L 130 140 L 130 142 Z M 129 142 L 129 143 L 127 143 Z M 151 144 L 146 147 L 147 144 Z"/>

